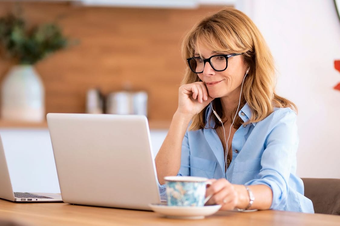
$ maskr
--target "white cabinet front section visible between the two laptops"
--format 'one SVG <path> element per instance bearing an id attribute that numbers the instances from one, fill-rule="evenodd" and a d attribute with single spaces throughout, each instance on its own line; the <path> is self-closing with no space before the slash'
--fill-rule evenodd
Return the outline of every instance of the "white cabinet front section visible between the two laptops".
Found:
<path id="1" fill-rule="evenodd" d="M 47 129 L 0 130 L 14 191 L 60 192 Z"/>

